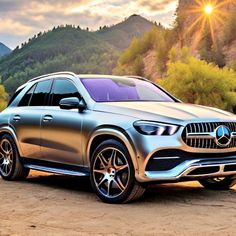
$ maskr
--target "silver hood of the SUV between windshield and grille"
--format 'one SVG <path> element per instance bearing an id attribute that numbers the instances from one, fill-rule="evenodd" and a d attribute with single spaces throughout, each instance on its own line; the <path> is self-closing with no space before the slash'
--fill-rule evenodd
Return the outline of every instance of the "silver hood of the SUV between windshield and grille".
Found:
<path id="1" fill-rule="evenodd" d="M 176 124 L 209 121 L 236 121 L 236 116 L 217 108 L 177 102 L 96 103 L 94 110 Z"/>

